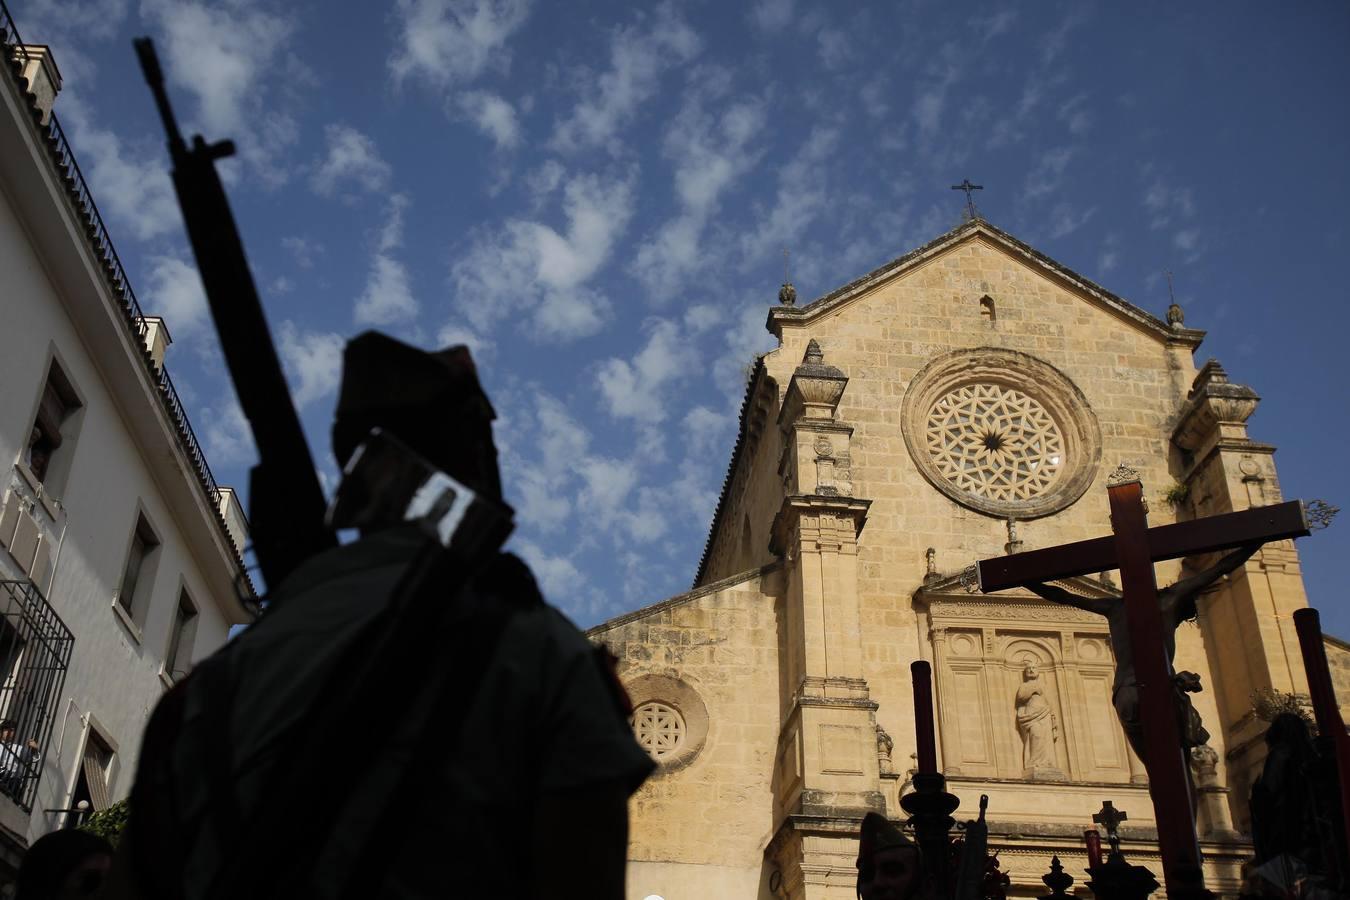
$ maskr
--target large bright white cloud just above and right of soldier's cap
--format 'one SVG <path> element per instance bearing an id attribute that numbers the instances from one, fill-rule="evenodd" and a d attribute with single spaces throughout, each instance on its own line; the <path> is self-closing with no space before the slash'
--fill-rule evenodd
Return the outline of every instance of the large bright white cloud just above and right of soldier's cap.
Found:
<path id="1" fill-rule="evenodd" d="M 451 270 L 456 305 L 479 332 L 524 313 L 539 337 L 570 340 L 598 332 L 609 300 L 587 287 L 605 266 L 633 213 L 633 177 L 576 175 L 563 189 L 564 232 L 509 220 L 481 235 Z"/>

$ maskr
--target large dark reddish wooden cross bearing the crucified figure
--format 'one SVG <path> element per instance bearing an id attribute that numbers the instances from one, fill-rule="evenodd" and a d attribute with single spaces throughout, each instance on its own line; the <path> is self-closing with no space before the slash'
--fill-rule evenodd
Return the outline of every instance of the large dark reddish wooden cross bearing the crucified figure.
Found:
<path id="1" fill-rule="evenodd" d="M 1162 634 L 1153 564 L 1183 556 L 1278 541 L 1308 534 L 1303 503 L 1291 501 L 1149 528 L 1139 476 L 1125 466 L 1107 482 L 1111 537 L 1062 544 L 1041 551 L 981 560 L 979 588 L 988 594 L 1011 587 L 1057 582 L 1077 575 L 1120 569 L 1134 672 L 1139 683 L 1143 765 L 1158 823 L 1162 876 L 1170 900 L 1212 897 L 1204 889 L 1187 760 L 1174 714 L 1172 667 Z"/>

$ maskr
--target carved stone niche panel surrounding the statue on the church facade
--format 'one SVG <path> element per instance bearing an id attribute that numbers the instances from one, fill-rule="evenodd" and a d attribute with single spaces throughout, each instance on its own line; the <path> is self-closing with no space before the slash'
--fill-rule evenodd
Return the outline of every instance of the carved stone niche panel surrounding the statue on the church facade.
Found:
<path id="1" fill-rule="evenodd" d="M 1029 594 L 972 596 L 956 582 L 933 582 L 915 596 L 927 611 L 946 775 L 1129 784 L 1131 760 L 1111 704 L 1115 663 L 1106 619 Z M 1060 584 L 1119 596 L 1095 579 Z M 1023 712 L 1046 712 L 1049 727 L 1044 716 L 1034 727 L 1026 721 L 1018 727 L 1027 663 L 1041 691 Z"/>

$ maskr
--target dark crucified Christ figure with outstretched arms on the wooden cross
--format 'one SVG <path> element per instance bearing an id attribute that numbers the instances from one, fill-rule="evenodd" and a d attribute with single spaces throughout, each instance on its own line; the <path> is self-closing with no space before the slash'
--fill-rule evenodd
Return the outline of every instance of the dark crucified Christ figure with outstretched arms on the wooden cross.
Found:
<path id="1" fill-rule="evenodd" d="M 1222 560 L 1191 578 L 1181 579 L 1172 587 L 1158 592 L 1158 613 L 1162 617 L 1162 646 L 1168 658 L 1168 668 L 1176 657 L 1176 630 L 1196 615 L 1196 598 L 1207 587 L 1220 578 L 1233 572 L 1246 563 L 1253 553 L 1261 549 L 1261 544 L 1246 544 L 1233 551 Z M 1111 653 L 1115 656 L 1115 681 L 1111 685 L 1111 704 L 1125 729 L 1125 737 L 1130 746 L 1145 758 L 1143 727 L 1139 722 L 1139 683 L 1134 671 L 1134 654 L 1130 652 L 1130 625 L 1126 604 L 1110 598 L 1079 596 L 1062 587 L 1053 584 L 1027 584 L 1033 594 L 1054 603 L 1072 606 L 1087 613 L 1096 613 L 1103 617 L 1111 633 Z M 1200 690 L 1200 676 L 1195 672 L 1176 672 L 1172 676 L 1173 691 L 1177 704 L 1177 725 L 1181 731 L 1181 746 L 1189 750 L 1193 746 L 1206 743 L 1210 738 L 1200 723 L 1200 714 L 1195 711 L 1187 694 Z"/>

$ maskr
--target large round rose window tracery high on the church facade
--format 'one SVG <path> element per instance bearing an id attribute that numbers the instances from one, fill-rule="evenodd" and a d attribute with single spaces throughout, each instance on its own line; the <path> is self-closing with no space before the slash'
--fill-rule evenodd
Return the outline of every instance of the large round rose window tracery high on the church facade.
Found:
<path id="1" fill-rule="evenodd" d="M 1065 464 L 1064 436 L 1045 407 L 998 383 L 945 394 L 933 403 L 925 430 L 938 474 L 991 501 L 1040 497 Z"/>

